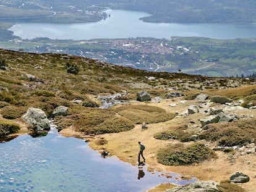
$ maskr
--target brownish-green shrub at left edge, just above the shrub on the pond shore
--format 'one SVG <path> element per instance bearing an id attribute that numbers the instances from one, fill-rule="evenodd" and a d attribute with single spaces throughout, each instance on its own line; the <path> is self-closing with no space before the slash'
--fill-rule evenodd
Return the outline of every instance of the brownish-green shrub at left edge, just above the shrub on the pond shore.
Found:
<path id="1" fill-rule="evenodd" d="M 25 108 L 15 107 L 15 106 L 6 106 L 1 109 L 2 117 L 6 119 L 17 119 L 25 113 Z"/>

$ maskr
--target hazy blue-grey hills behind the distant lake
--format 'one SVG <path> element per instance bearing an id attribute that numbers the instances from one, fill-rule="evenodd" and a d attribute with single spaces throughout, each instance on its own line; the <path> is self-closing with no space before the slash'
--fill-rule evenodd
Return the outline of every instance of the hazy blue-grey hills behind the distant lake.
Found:
<path id="1" fill-rule="evenodd" d="M 96 1 L 3 1 L 1 9 L 14 20 L 33 22 L 85 22 L 102 19 L 95 14 L 105 7 L 111 9 L 141 10 L 151 14 L 147 22 L 166 23 L 255 23 L 256 2 L 253 0 L 96 0 Z M 9 12 L 8 12 L 9 9 Z M 17 9 L 14 11 L 14 9 Z M 36 11 L 38 11 L 36 13 Z M 85 12 L 90 11 L 90 14 Z M 2 11 L 2 13 L 4 14 Z M 53 15 L 57 13 L 56 15 Z M 13 14 L 13 15 L 12 15 Z M 22 14 L 23 19 L 22 19 Z M 53 15 L 53 17 L 45 17 Z M 17 17 L 19 15 L 19 18 Z M 34 15 L 34 17 L 32 17 Z M 6 18 L 1 15 L 0 18 Z M 31 17 L 31 18 L 29 18 Z M 35 17 L 41 17 L 35 18 Z M 42 18 L 45 18 L 43 20 Z"/>

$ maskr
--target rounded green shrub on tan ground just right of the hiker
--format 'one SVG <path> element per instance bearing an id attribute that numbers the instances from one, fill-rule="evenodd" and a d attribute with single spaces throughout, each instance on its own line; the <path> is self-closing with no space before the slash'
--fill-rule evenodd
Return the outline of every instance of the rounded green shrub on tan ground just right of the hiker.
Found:
<path id="1" fill-rule="evenodd" d="M 157 154 L 158 162 L 163 165 L 190 165 L 211 158 L 216 158 L 215 152 L 203 143 L 194 143 L 187 147 L 184 144 L 168 144 Z"/>

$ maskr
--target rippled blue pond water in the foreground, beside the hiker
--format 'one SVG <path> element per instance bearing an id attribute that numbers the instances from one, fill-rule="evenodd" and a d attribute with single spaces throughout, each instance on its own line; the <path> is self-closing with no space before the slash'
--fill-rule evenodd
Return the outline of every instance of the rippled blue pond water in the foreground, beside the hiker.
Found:
<path id="1" fill-rule="evenodd" d="M 0 143 L 0 191 L 147 191 L 160 183 L 184 185 L 179 180 L 151 174 L 138 180 L 138 167 L 116 157 L 102 158 L 77 138 L 60 136 L 51 125 L 48 135 L 22 135 Z"/>

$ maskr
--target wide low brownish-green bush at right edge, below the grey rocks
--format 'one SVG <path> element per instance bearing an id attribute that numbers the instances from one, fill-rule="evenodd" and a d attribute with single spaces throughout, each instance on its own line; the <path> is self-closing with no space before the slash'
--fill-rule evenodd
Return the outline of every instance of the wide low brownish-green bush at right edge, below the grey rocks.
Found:
<path id="1" fill-rule="evenodd" d="M 201 139 L 217 141 L 221 146 L 243 146 L 256 139 L 256 119 L 212 124 L 200 134 Z"/>

